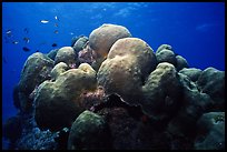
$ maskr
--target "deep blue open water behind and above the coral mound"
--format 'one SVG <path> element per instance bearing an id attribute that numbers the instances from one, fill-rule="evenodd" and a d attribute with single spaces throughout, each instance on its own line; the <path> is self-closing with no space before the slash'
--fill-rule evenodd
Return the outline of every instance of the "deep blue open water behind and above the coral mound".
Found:
<path id="1" fill-rule="evenodd" d="M 189 67 L 225 71 L 224 2 L 2 2 L 2 123 L 18 112 L 12 90 L 27 58 L 49 52 L 52 43 L 70 45 L 102 23 L 126 27 L 154 51 L 170 44 Z"/>

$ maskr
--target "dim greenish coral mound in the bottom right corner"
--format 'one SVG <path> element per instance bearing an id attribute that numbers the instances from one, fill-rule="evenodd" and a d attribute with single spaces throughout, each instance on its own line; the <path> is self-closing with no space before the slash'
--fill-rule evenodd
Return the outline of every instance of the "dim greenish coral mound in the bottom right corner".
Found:
<path id="1" fill-rule="evenodd" d="M 196 150 L 225 150 L 225 112 L 204 113 L 197 125 Z"/>

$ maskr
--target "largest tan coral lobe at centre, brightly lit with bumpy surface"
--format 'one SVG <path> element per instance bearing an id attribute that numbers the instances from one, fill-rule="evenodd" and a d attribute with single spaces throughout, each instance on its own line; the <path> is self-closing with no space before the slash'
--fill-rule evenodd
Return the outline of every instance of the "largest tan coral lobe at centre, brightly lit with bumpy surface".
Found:
<path id="1" fill-rule="evenodd" d="M 141 39 L 124 38 L 115 42 L 97 73 L 107 94 L 117 93 L 130 104 L 139 104 L 141 85 L 156 68 L 152 49 Z"/>

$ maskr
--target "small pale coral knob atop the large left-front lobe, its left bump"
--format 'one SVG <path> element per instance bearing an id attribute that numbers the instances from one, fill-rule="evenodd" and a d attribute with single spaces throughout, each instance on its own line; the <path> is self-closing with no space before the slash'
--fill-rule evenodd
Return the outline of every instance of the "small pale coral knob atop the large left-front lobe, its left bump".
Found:
<path id="1" fill-rule="evenodd" d="M 61 73 L 66 72 L 67 70 L 69 70 L 69 67 L 65 62 L 59 62 L 51 70 L 51 79 L 56 80 Z"/>

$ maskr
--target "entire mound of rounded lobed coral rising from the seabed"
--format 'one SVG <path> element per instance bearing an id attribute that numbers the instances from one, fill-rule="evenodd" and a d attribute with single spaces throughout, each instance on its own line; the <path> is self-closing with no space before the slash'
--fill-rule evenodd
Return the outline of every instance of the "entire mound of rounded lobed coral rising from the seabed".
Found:
<path id="1" fill-rule="evenodd" d="M 10 150 L 225 150 L 225 71 L 121 26 L 31 54 L 12 95 Z"/>

